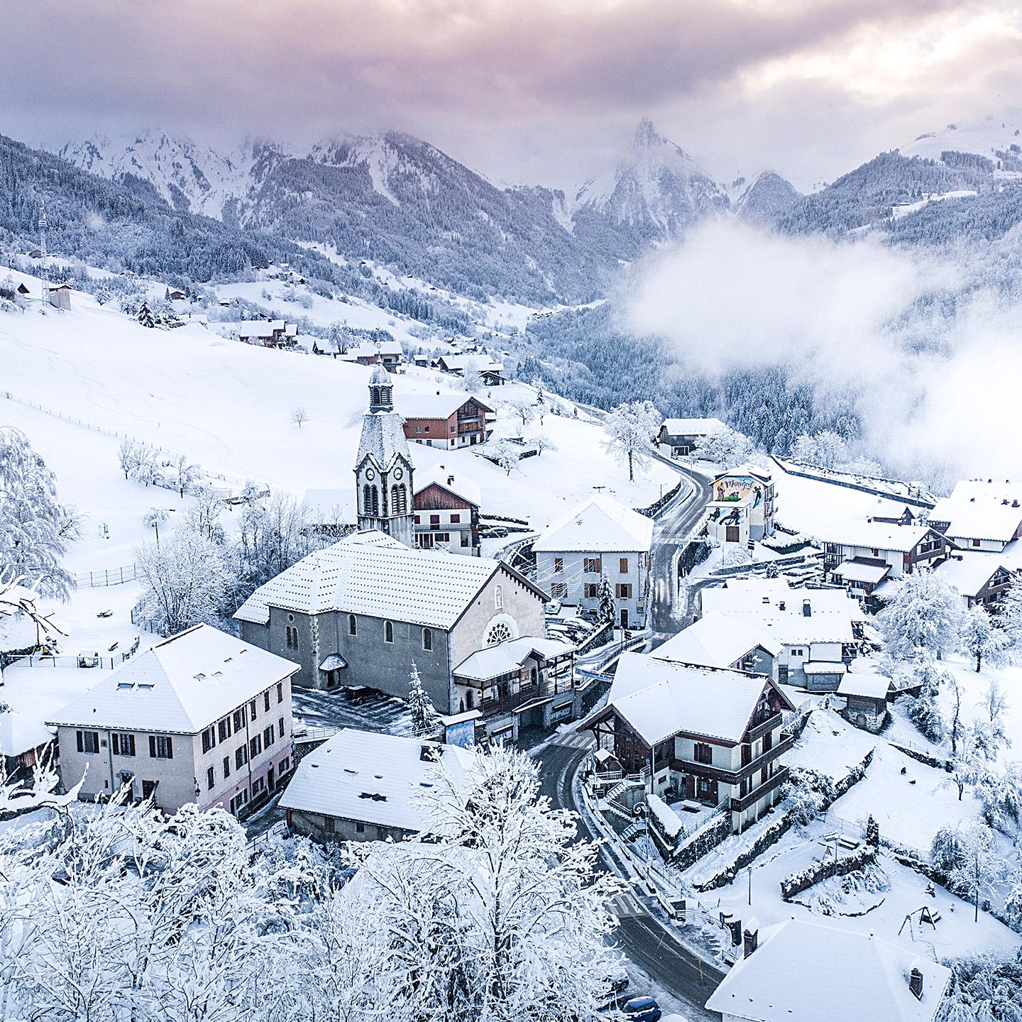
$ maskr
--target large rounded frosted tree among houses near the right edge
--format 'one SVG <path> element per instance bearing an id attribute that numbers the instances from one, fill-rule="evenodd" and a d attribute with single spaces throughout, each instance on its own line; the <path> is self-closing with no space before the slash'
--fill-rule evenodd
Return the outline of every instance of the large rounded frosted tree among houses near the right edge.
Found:
<path id="1" fill-rule="evenodd" d="M 958 645 L 962 598 L 932 571 L 904 575 L 891 601 L 877 614 L 887 652 L 911 660 L 920 651 L 937 658 Z"/>

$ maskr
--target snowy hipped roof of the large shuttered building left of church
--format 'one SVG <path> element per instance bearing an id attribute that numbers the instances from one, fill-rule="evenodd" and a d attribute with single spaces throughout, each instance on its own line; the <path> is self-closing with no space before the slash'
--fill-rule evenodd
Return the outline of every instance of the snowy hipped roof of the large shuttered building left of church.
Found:
<path id="1" fill-rule="evenodd" d="M 297 669 L 197 624 L 128 660 L 47 724 L 197 734 Z"/>

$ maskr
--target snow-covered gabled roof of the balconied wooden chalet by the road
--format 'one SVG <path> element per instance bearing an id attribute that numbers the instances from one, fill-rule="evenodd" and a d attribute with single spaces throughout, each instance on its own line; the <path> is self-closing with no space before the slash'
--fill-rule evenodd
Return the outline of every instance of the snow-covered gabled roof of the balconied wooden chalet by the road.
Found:
<path id="1" fill-rule="evenodd" d="M 624 653 L 617 662 L 607 706 L 651 746 L 681 733 L 737 743 L 766 687 L 792 708 L 787 696 L 762 675 Z"/>

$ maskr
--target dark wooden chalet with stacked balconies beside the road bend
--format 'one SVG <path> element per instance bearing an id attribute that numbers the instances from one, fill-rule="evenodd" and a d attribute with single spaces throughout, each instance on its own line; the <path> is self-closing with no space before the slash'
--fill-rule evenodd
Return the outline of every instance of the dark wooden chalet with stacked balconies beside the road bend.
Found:
<path id="1" fill-rule="evenodd" d="M 606 706 L 579 725 L 647 792 L 726 808 L 737 832 L 781 797 L 794 706 L 773 679 L 625 653 Z"/>

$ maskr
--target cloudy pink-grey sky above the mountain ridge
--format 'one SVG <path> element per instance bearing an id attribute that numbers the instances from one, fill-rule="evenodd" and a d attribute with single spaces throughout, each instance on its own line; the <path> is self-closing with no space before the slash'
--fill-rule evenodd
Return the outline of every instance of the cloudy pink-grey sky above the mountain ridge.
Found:
<path id="1" fill-rule="evenodd" d="M 799 187 L 1022 96 L 1019 0 L 31 0 L 0 132 L 304 143 L 397 128 L 570 187 L 644 115 L 718 179 Z"/>

